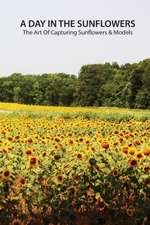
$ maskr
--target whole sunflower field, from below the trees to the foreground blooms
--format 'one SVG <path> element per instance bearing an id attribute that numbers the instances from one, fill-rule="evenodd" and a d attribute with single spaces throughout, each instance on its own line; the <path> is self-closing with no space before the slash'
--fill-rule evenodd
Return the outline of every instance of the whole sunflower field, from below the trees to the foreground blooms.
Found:
<path id="1" fill-rule="evenodd" d="M 0 109 L 0 225 L 150 224 L 150 111 Z"/>

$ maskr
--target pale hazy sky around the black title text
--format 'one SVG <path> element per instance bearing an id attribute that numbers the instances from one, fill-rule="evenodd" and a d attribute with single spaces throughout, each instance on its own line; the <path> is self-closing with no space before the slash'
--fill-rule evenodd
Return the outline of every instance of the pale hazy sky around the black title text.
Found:
<path id="1" fill-rule="evenodd" d="M 149 0 L 5 0 L 0 7 L 0 76 L 78 74 L 82 65 L 150 58 Z M 25 19 L 135 19 L 131 36 L 25 36 Z"/>

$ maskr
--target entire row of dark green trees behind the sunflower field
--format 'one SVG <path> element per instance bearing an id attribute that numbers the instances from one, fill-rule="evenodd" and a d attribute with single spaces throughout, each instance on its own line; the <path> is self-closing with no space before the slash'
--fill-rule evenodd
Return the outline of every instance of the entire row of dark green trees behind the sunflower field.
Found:
<path id="1" fill-rule="evenodd" d="M 0 101 L 38 105 L 150 108 L 150 59 L 84 65 L 64 73 L 0 78 Z"/>

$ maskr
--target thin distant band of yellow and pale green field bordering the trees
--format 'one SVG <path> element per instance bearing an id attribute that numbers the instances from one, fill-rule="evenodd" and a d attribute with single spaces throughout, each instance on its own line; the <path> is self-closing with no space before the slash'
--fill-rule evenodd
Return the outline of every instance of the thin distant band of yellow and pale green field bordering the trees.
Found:
<path id="1" fill-rule="evenodd" d="M 0 103 L 1 112 L 23 112 L 40 116 L 84 117 L 106 120 L 150 120 L 150 110 L 116 107 L 61 107 Z"/>

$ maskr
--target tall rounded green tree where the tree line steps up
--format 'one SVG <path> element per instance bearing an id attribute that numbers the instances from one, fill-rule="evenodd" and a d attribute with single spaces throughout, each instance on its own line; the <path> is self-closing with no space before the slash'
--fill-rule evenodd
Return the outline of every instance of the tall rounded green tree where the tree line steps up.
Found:
<path id="1" fill-rule="evenodd" d="M 111 65 L 86 65 L 81 68 L 76 88 L 80 105 L 102 105 L 102 86 L 111 80 Z"/>

